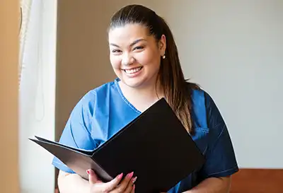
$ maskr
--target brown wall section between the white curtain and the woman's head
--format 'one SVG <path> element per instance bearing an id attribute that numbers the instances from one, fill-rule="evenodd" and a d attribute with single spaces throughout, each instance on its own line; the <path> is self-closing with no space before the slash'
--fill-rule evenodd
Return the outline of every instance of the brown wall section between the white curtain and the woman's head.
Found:
<path id="1" fill-rule="evenodd" d="M 107 19 L 99 2 L 58 1 L 57 136 L 79 98 L 113 77 L 105 42 Z"/>

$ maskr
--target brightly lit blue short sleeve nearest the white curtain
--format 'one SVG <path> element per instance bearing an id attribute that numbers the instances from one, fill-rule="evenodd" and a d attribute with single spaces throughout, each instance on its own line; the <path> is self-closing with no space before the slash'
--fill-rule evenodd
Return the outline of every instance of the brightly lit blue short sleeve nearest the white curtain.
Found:
<path id="1" fill-rule="evenodd" d="M 93 150 L 96 143 L 91 137 L 91 123 L 93 117 L 93 107 L 95 103 L 95 93 L 88 92 L 79 100 L 69 116 L 66 126 L 59 139 L 60 144 L 80 148 L 83 150 Z M 64 172 L 74 173 L 61 160 L 54 157 L 52 165 Z"/>

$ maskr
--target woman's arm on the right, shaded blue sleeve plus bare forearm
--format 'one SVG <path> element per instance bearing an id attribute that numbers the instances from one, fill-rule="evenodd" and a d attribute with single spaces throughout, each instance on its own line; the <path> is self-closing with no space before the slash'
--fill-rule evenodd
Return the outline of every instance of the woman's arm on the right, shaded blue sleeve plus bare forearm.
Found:
<path id="1" fill-rule="evenodd" d="M 209 94 L 204 93 L 207 111 L 208 148 L 206 163 L 200 170 L 202 182 L 185 193 L 227 193 L 231 175 L 238 171 L 236 156 L 221 113 Z"/>

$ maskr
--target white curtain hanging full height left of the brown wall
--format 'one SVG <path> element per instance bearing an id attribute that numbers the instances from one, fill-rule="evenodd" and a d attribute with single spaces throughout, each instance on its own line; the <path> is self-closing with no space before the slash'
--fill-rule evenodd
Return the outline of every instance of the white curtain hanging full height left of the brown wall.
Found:
<path id="1" fill-rule="evenodd" d="M 54 140 L 56 0 L 21 0 L 20 182 L 21 193 L 54 192 L 52 156 L 28 138 Z"/>

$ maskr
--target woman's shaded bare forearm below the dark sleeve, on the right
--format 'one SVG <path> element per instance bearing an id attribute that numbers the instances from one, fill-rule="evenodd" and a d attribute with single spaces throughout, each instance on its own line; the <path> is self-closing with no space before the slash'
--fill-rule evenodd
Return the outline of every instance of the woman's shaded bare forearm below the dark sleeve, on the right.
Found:
<path id="1" fill-rule="evenodd" d="M 230 177 L 210 177 L 183 193 L 228 193 L 229 188 Z"/>

